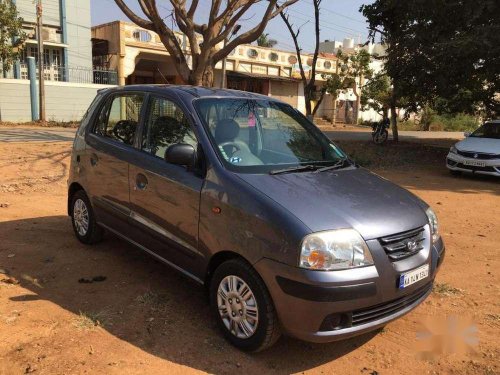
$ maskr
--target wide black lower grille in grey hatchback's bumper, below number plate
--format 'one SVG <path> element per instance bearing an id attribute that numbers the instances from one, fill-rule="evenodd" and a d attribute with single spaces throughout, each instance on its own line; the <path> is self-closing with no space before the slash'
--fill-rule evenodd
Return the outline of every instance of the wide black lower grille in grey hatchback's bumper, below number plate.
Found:
<path id="1" fill-rule="evenodd" d="M 356 310 L 352 313 L 352 326 L 355 327 L 361 324 L 370 323 L 393 315 L 417 302 L 419 299 L 424 297 L 431 288 L 432 283 L 427 284 L 410 295 L 398 298 L 391 302 Z"/>

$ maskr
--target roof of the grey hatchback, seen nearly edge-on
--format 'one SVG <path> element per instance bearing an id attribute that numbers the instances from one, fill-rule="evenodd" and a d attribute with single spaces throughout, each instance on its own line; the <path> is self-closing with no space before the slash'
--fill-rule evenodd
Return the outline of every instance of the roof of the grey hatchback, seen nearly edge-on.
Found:
<path id="1" fill-rule="evenodd" d="M 145 92 L 176 92 L 180 95 L 190 95 L 194 98 L 207 98 L 207 97 L 239 97 L 249 99 L 272 99 L 266 95 L 256 94 L 247 91 L 218 89 L 210 87 L 188 86 L 188 85 L 129 85 L 115 87 L 110 90 L 113 91 L 145 91 Z"/>

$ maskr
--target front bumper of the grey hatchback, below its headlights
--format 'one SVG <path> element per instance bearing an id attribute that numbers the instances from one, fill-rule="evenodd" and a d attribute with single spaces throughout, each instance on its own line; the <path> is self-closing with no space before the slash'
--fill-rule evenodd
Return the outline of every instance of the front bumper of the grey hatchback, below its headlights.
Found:
<path id="1" fill-rule="evenodd" d="M 431 293 L 444 258 L 442 240 L 432 246 L 426 259 L 412 257 L 417 263 L 412 258 L 390 262 L 383 249 L 375 249 L 378 241 L 367 243 L 375 266 L 321 272 L 270 259 L 255 264 L 288 335 L 318 343 L 357 336 L 407 314 Z M 430 266 L 429 277 L 408 288 L 397 288 L 402 272 L 423 264 Z"/>

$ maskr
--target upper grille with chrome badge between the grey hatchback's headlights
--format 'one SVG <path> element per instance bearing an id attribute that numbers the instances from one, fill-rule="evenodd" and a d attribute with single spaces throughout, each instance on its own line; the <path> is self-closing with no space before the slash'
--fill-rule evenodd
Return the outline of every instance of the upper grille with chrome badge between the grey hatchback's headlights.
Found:
<path id="1" fill-rule="evenodd" d="M 380 245 L 393 262 L 411 257 L 424 248 L 424 228 L 382 237 Z"/>

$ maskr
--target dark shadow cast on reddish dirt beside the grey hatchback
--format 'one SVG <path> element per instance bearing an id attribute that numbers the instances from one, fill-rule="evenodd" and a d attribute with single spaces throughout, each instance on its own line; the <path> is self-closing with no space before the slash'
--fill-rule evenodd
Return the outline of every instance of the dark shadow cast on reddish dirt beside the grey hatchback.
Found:
<path id="1" fill-rule="evenodd" d="M 98 315 L 102 328 L 120 340 L 194 369 L 295 373 L 340 358 L 376 335 L 323 345 L 283 337 L 267 351 L 243 353 L 218 332 L 203 287 L 114 236 L 85 246 L 68 217 L 48 216 L 0 222 L 0 238 L 0 268 L 28 291 L 9 303 L 30 309 L 45 300 L 75 319 Z M 15 256 L 7 257 L 7 249 Z"/>

